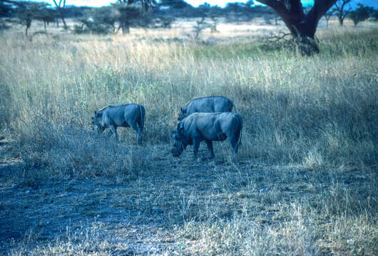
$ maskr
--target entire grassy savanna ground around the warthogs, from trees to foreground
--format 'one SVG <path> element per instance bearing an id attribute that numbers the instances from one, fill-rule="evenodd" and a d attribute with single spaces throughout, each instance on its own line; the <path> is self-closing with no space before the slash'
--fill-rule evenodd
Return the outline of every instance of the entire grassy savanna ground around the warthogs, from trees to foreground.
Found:
<path id="1" fill-rule="evenodd" d="M 376 255 L 377 25 L 321 27 L 311 58 L 262 40 L 280 28 L 1 33 L 0 254 Z M 170 154 L 204 95 L 243 117 L 236 161 L 228 143 Z M 128 102 L 147 112 L 141 146 L 91 127 Z"/>

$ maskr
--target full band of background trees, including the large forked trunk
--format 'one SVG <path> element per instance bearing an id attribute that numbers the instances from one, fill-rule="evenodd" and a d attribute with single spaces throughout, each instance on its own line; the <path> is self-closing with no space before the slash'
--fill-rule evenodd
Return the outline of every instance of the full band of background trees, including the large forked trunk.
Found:
<path id="1" fill-rule="evenodd" d="M 205 28 L 217 31 L 218 18 L 226 22 L 251 21 L 261 17 L 265 23 L 281 19 L 290 31 L 297 50 L 303 55 L 318 53 L 315 32 L 322 16 L 328 21 L 337 16 L 340 25 L 344 18 L 352 19 L 354 25 L 371 17 L 377 21 L 377 10 L 358 4 L 352 9 L 352 0 L 316 0 L 314 6 L 302 6 L 300 0 L 256 0 L 267 6 L 257 6 L 250 0 L 246 3 L 228 3 L 224 8 L 202 4 L 193 7 L 183 0 L 115 0 L 110 6 L 100 8 L 66 6 L 66 0 L 53 0 L 54 6 L 34 1 L 0 0 L 0 30 L 9 24 L 19 23 L 25 27 L 25 34 L 33 21 L 49 23 L 63 22 L 65 18 L 75 18 L 75 33 L 122 33 L 130 32 L 131 27 L 168 28 L 175 18 L 200 18 L 195 27 L 196 34 Z M 208 21 L 210 20 L 210 22 Z"/>

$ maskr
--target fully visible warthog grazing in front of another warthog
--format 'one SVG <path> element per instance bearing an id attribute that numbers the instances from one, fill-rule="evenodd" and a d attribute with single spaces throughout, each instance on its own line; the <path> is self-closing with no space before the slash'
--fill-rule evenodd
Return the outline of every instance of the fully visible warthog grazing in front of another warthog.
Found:
<path id="1" fill-rule="evenodd" d="M 242 117 L 233 112 L 193 113 L 178 123 L 172 137 L 173 156 L 180 156 L 186 146 L 193 145 L 196 157 L 200 142 L 205 141 L 213 158 L 213 141 L 223 142 L 228 138 L 233 146 L 235 159 L 242 137 Z"/>

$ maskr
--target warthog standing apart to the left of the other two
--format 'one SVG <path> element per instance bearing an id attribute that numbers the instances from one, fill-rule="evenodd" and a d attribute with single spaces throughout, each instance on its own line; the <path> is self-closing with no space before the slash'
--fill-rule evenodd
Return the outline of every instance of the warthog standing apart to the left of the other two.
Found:
<path id="1" fill-rule="evenodd" d="M 145 109 L 142 105 L 126 104 L 108 106 L 95 111 L 92 124 L 97 126 L 98 134 L 110 128 L 118 142 L 117 127 L 133 127 L 138 133 L 137 142 L 142 143 Z"/>

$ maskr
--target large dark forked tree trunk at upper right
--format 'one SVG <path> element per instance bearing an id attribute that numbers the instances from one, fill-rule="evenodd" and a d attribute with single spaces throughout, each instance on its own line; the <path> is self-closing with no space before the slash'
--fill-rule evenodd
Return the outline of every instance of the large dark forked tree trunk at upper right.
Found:
<path id="1" fill-rule="evenodd" d="M 312 9 L 305 13 L 300 0 L 257 0 L 272 7 L 281 16 L 292 35 L 297 51 L 302 55 L 319 53 L 315 32 L 320 18 L 337 0 L 315 0 Z"/>

